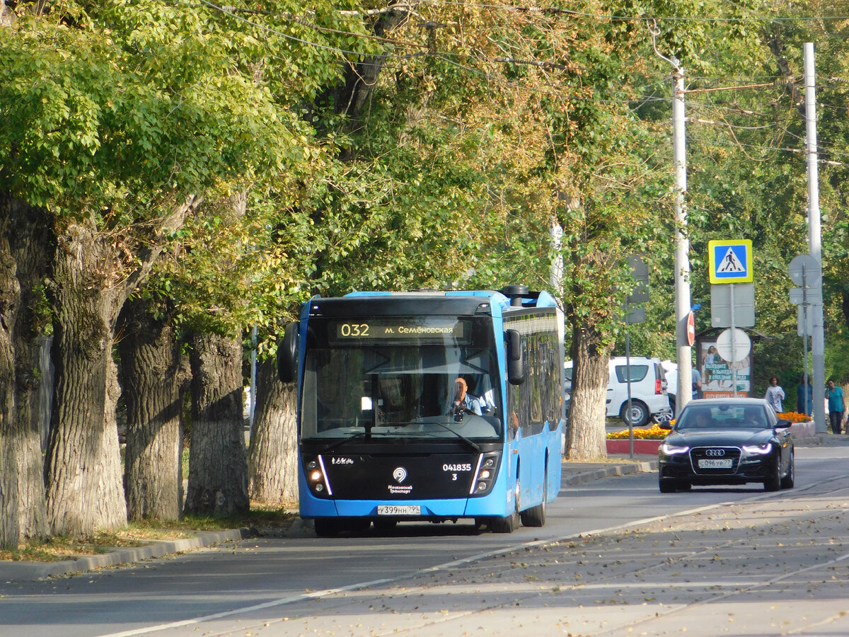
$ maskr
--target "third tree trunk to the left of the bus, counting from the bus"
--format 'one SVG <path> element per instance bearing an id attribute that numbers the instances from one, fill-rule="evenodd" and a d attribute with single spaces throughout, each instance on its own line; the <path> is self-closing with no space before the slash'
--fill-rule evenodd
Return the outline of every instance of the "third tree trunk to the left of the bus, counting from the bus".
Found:
<path id="1" fill-rule="evenodd" d="M 131 520 L 177 520 L 183 512 L 183 393 L 188 359 L 168 318 L 127 302 L 118 348 L 127 403 L 124 488 Z"/>

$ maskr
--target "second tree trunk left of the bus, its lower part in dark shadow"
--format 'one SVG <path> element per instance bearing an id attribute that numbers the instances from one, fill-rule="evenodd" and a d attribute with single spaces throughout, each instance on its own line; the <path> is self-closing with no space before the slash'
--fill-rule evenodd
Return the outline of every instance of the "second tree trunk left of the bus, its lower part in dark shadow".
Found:
<path id="1" fill-rule="evenodd" d="M 186 513 L 227 516 L 250 510 L 242 421 L 241 342 L 192 338 L 192 430 Z"/>

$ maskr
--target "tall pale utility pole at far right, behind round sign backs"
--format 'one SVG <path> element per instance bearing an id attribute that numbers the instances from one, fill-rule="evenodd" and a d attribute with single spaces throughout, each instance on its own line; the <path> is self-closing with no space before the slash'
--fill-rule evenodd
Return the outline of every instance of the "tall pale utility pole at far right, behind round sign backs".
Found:
<path id="1" fill-rule="evenodd" d="M 810 255 L 823 265 L 822 229 L 819 214 L 819 176 L 817 170 L 817 89 L 814 79 L 813 42 L 805 42 L 805 124 L 807 144 L 807 241 Z M 823 296 L 813 299 L 812 366 L 813 422 L 817 433 L 828 430 L 825 423 L 825 335 L 823 329 Z"/>

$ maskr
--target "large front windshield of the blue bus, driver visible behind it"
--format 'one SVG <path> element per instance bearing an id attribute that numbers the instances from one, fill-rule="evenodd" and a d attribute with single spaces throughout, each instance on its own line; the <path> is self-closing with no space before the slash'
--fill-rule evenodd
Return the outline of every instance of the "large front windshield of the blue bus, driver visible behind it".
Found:
<path id="1" fill-rule="evenodd" d="M 301 439 L 501 439 L 487 330 L 475 330 L 484 342 L 432 334 L 335 341 L 339 329 L 320 323 L 313 319 L 306 349 Z"/>

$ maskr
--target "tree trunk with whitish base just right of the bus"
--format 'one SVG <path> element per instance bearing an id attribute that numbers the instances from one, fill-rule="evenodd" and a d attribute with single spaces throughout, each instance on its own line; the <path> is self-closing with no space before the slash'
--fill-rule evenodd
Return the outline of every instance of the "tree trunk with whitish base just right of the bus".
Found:
<path id="1" fill-rule="evenodd" d="M 593 460 L 607 457 L 604 431 L 610 350 L 601 347 L 593 327 L 572 324 L 572 392 L 566 458 Z"/>

